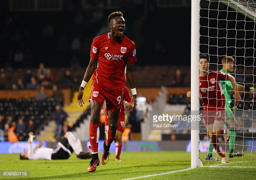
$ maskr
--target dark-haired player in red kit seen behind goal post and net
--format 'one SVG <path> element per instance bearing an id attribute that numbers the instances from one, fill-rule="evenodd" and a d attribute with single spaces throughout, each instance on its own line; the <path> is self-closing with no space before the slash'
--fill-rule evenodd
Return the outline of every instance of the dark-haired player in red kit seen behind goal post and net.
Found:
<path id="1" fill-rule="evenodd" d="M 217 136 L 224 135 L 228 142 L 229 133 L 225 127 L 225 96 L 222 90 L 220 80 L 231 81 L 234 87 L 235 99 L 237 105 L 241 97 L 238 92 L 237 83 L 233 76 L 220 71 L 211 71 L 209 68 L 209 57 L 206 54 L 200 55 L 199 65 L 199 90 L 203 101 L 203 124 L 211 138 L 212 145 L 216 152 L 222 157 L 222 163 L 228 162 L 228 158 L 219 142 Z M 187 92 L 187 97 L 191 97 L 191 92 Z"/>

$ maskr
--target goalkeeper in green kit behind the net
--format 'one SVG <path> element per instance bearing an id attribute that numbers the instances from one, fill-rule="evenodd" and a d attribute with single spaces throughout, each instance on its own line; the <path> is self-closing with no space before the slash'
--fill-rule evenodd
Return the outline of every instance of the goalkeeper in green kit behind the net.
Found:
<path id="1" fill-rule="evenodd" d="M 233 65 L 234 65 L 234 58 L 231 56 L 223 56 L 222 57 L 222 69 L 220 70 L 222 73 L 230 74 L 233 71 Z M 234 118 L 234 113 L 232 112 L 232 109 L 230 108 L 231 105 L 231 90 L 234 90 L 234 87 L 232 86 L 230 81 L 221 81 L 222 84 L 222 90 L 225 95 L 226 99 L 226 123 L 230 126 L 229 130 L 229 157 L 234 158 L 235 156 L 242 156 L 244 155 L 243 152 L 237 152 L 234 150 L 235 140 L 236 140 L 236 128 L 238 127 L 237 120 Z M 241 86 L 240 84 L 237 84 L 238 91 L 244 92 L 244 86 Z M 206 155 L 206 160 L 213 160 L 213 161 L 220 161 L 220 159 L 217 159 L 215 157 L 212 157 L 212 150 L 213 146 L 211 143 L 211 140 L 209 141 L 209 149 L 208 153 Z"/>

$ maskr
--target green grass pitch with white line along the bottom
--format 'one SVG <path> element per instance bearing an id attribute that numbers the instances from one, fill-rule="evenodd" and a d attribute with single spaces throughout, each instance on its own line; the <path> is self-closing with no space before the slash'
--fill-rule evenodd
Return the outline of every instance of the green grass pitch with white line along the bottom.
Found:
<path id="1" fill-rule="evenodd" d="M 122 152 L 121 162 L 109 156 L 106 165 L 89 173 L 90 159 L 78 159 L 73 153 L 67 160 L 19 160 L 19 154 L 0 154 L 0 179 L 26 180 L 253 180 L 256 175 L 256 153 L 244 157 L 228 158 L 227 164 L 203 161 L 203 168 L 190 168 L 190 153 L 187 152 Z M 101 153 L 99 153 L 101 155 Z M 206 153 L 200 153 L 204 160 Z M 187 170 L 188 169 L 188 170 Z M 186 171 L 183 171 L 186 170 Z M 3 177 L 3 171 L 29 171 L 29 177 Z"/>

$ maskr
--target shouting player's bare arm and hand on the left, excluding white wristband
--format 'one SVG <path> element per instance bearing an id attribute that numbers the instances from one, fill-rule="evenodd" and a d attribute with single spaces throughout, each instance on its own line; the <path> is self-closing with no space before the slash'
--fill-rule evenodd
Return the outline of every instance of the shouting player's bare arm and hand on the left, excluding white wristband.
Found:
<path id="1" fill-rule="evenodd" d="M 88 82 L 91 79 L 92 74 L 94 74 L 94 71 L 96 69 L 96 64 L 97 64 L 97 59 L 90 59 L 89 65 L 86 68 L 86 71 L 84 73 L 84 81 Z M 79 92 L 77 94 L 77 100 L 78 100 L 78 104 L 80 107 L 83 107 L 83 103 L 84 103 L 84 99 L 83 99 L 83 95 L 84 95 L 84 87 L 79 88 Z"/>

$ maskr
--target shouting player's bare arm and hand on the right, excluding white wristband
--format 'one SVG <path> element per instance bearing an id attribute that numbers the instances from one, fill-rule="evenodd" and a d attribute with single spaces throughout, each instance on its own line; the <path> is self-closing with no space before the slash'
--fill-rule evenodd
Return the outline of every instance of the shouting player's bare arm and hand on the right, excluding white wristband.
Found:
<path id="1" fill-rule="evenodd" d="M 126 65 L 126 77 L 127 77 L 128 83 L 130 85 L 130 88 L 131 89 L 135 88 L 133 63 Z M 134 94 L 131 97 L 131 104 L 127 107 L 127 109 L 130 109 L 129 112 L 131 112 L 136 105 L 137 105 L 137 94 Z"/>

